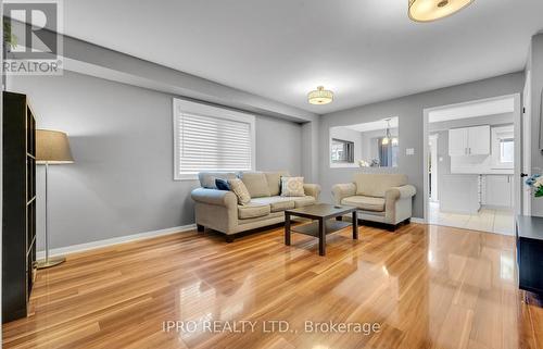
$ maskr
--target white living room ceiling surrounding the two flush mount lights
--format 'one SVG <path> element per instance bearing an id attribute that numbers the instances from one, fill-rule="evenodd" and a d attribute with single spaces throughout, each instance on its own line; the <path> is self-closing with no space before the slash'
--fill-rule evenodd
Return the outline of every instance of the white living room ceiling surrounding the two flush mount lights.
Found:
<path id="1" fill-rule="evenodd" d="M 71 0 L 64 33 L 316 113 L 523 68 L 542 0 L 476 0 L 439 22 L 407 0 Z M 333 103 L 311 105 L 318 85 Z"/>

